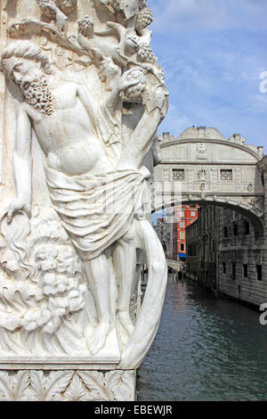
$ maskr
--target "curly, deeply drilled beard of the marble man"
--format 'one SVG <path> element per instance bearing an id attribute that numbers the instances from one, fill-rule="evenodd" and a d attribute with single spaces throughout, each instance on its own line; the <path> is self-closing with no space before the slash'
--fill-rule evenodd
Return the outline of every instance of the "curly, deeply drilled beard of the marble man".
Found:
<path id="1" fill-rule="evenodd" d="M 20 88 L 27 103 L 44 115 L 54 111 L 53 96 L 43 75 L 33 79 L 21 79 Z"/>

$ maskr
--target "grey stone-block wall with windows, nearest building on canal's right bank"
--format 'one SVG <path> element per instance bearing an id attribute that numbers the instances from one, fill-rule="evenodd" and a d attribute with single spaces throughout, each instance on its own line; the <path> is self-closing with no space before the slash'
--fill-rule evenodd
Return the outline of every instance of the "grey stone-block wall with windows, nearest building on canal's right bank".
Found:
<path id="1" fill-rule="evenodd" d="M 221 209 L 218 292 L 255 306 L 267 301 L 264 252 L 247 218 Z"/>

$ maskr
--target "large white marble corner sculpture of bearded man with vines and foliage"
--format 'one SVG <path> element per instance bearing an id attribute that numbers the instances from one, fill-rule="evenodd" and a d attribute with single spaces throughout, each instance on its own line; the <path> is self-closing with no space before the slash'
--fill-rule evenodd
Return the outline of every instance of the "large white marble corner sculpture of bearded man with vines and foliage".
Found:
<path id="1" fill-rule="evenodd" d="M 16 3 L 20 17 L 28 2 Z M 16 197 L 2 202 L 0 300 L 2 287 L 10 300 L 0 301 L 0 363 L 13 352 L 77 354 L 90 364 L 113 350 L 117 369 L 134 370 L 166 291 L 164 253 L 146 213 L 168 106 L 150 49 L 152 12 L 141 0 L 40 0 L 31 10 L 35 17 L 10 21 L 16 40 L 1 53 L 15 109 L 15 130 L 7 130 Z M 136 318 L 140 251 L 150 279 Z M 12 310 L 16 292 L 22 316 Z"/>

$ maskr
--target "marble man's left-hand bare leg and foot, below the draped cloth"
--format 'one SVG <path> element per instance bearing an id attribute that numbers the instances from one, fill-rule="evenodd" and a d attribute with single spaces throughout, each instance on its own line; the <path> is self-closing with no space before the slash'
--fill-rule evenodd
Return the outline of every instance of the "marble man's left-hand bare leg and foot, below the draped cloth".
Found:
<path id="1" fill-rule="evenodd" d="M 97 354 L 105 345 L 107 336 L 113 327 L 110 308 L 110 273 L 109 261 L 105 254 L 85 261 L 85 275 L 93 293 L 93 300 L 99 318 L 99 324 L 87 338 L 92 355 Z"/>

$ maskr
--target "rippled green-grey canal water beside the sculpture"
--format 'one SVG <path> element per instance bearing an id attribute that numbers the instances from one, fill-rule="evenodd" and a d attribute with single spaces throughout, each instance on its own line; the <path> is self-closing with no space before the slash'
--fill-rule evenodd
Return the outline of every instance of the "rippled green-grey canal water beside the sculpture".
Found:
<path id="1" fill-rule="evenodd" d="M 138 400 L 267 400 L 260 314 L 169 280 L 157 338 L 138 371 Z"/>

